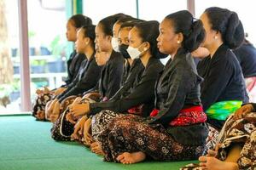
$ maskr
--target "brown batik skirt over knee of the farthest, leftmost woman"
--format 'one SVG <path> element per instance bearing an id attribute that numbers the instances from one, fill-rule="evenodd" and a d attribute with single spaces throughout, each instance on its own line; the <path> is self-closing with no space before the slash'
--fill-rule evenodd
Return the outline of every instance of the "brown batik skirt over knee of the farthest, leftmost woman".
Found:
<path id="1" fill-rule="evenodd" d="M 47 121 L 45 118 L 45 105 L 52 99 L 54 99 L 54 94 L 52 93 L 38 95 L 32 104 L 32 116 L 36 117 L 37 121 Z"/>

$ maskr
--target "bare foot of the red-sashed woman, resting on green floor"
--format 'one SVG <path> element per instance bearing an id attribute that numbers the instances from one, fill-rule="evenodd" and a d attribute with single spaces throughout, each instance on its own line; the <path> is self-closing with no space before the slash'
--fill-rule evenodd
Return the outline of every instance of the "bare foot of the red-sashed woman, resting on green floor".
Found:
<path id="1" fill-rule="evenodd" d="M 137 163 L 140 161 L 144 161 L 145 159 L 146 154 L 144 154 L 142 151 L 133 153 L 125 152 L 116 158 L 117 161 L 120 161 L 123 164 Z"/>

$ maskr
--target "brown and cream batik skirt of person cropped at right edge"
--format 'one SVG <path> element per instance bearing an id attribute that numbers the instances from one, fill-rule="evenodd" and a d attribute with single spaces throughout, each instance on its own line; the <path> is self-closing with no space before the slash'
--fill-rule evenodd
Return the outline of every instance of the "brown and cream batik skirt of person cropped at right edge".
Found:
<path id="1" fill-rule="evenodd" d="M 231 144 L 242 145 L 237 163 L 240 169 L 253 170 L 256 167 L 256 114 L 233 120 L 233 115 L 225 122 L 219 135 L 218 159 L 224 161 Z"/>

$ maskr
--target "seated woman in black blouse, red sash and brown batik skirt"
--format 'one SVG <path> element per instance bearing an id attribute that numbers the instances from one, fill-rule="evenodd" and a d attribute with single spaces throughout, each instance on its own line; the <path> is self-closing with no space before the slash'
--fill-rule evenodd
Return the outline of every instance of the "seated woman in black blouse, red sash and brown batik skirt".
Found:
<path id="1" fill-rule="evenodd" d="M 150 118 L 121 116 L 100 136 L 105 161 L 124 164 L 145 160 L 196 159 L 205 150 L 207 116 L 200 100 L 201 77 L 190 52 L 203 42 L 201 20 L 188 11 L 169 14 L 160 24 L 160 52 L 171 54 L 156 87 L 155 109 Z"/>

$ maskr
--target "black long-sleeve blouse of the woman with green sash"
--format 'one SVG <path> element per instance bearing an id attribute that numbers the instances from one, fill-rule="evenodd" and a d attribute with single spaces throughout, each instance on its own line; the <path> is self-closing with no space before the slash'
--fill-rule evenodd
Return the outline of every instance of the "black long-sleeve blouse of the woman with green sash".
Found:
<path id="1" fill-rule="evenodd" d="M 230 48 L 222 44 L 213 54 L 197 65 L 204 78 L 201 83 L 201 101 L 204 111 L 219 101 L 241 100 L 247 103 L 247 92 L 241 66 Z M 214 127 L 221 128 L 223 121 L 208 119 Z"/>

